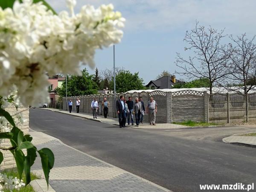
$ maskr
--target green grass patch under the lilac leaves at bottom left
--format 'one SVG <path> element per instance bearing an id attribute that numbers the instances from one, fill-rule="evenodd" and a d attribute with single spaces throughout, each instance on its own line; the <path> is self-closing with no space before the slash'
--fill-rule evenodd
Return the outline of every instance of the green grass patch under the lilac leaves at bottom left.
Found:
<path id="1" fill-rule="evenodd" d="M 16 169 L 6 169 L 6 170 L 3 170 L 1 171 L 2 174 L 6 174 L 8 177 L 9 176 L 12 176 L 13 178 L 14 177 L 17 177 L 19 178 L 19 174 L 17 173 L 17 170 Z M 26 177 L 25 177 L 25 174 L 22 175 L 22 178 L 21 178 L 24 183 L 26 183 Z M 37 175 L 35 175 L 34 173 L 31 173 L 31 180 L 35 180 L 35 179 L 40 179 Z M 4 192 L 11 192 L 10 190 L 3 190 Z M 16 190 L 14 189 L 12 192 L 35 192 L 33 187 L 30 186 L 30 185 L 27 185 L 25 187 L 22 187 L 20 188 L 20 190 Z"/>

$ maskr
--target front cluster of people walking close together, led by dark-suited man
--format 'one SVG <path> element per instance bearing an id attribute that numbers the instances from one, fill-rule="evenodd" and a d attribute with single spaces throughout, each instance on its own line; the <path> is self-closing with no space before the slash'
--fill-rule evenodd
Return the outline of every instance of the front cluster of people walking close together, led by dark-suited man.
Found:
<path id="1" fill-rule="evenodd" d="M 126 127 L 126 118 L 128 125 L 134 125 L 134 115 L 136 126 L 139 127 L 140 123 L 143 124 L 144 113 L 147 112 L 149 116 L 150 125 L 156 125 L 156 113 L 157 113 L 157 102 L 151 97 L 148 101 L 147 111 L 145 111 L 145 105 L 142 97 L 136 97 L 135 102 L 132 101 L 131 96 L 128 97 L 128 101 L 124 99 L 124 96 L 120 96 L 120 99 L 116 101 L 116 112 L 118 113 L 119 127 Z M 130 121 L 131 119 L 131 121 Z"/>

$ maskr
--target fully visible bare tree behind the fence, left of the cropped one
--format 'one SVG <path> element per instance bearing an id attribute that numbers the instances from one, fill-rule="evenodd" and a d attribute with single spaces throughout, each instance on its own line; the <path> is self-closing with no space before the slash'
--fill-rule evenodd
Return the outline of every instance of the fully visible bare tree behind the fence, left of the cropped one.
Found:
<path id="1" fill-rule="evenodd" d="M 232 51 L 232 46 L 221 45 L 224 29 L 218 32 L 209 26 L 199 26 L 196 22 L 195 29 L 186 32 L 184 41 L 189 44 L 186 50 L 193 50 L 195 56 L 188 59 L 177 53 L 176 65 L 184 70 L 183 75 L 193 78 L 207 78 L 210 82 L 209 91 L 212 93 L 212 86 L 218 80 L 229 73 L 227 61 Z"/>

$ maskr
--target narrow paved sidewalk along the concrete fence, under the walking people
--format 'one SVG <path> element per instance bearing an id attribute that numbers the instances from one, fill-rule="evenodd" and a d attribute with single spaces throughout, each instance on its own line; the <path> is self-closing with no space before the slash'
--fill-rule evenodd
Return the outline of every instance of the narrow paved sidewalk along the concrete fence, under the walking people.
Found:
<path id="1" fill-rule="evenodd" d="M 60 113 L 65 113 L 68 115 L 73 115 L 73 116 L 79 116 L 82 118 L 86 118 L 86 119 L 91 119 L 94 121 L 99 121 L 99 122 L 104 122 L 104 123 L 108 123 L 111 125 L 119 125 L 118 119 L 117 118 L 103 118 L 101 116 L 98 116 L 97 119 L 93 119 L 93 116 L 91 114 L 88 113 L 69 113 L 69 111 L 65 111 L 65 110 L 59 110 L 59 109 L 52 109 L 52 108 L 42 108 L 45 110 L 50 110 L 50 111 L 56 111 L 56 112 L 60 112 Z M 188 126 L 184 126 L 184 125 L 177 125 L 177 124 L 172 124 L 172 123 L 157 123 L 156 126 L 152 126 L 149 125 L 149 123 L 144 123 L 144 124 L 140 124 L 139 127 L 136 127 L 136 125 L 126 125 L 128 127 L 131 128 L 143 128 L 143 129 L 180 129 L 180 128 L 191 128 Z"/>

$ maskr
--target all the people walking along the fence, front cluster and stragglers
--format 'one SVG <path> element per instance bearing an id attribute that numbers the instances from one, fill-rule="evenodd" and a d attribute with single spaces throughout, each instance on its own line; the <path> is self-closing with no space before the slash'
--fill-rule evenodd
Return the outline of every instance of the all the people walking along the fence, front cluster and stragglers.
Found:
<path id="1" fill-rule="evenodd" d="M 126 119 L 128 125 L 134 125 L 134 115 L 135 115 L 135 123 L 138 127 L 140 123 L 143 124 L 143 118 L 144 114 L 148 113 L 149 116 L 149 122 L 150 125 L 156 125 L 156 113 L 157 113 L 157 102 L 154 100 L 153 97 L 150 97 L 150 100 L 148 101 L 147 108 L 145 109 L 144 102 L 142 100 L 142 97 L 136 97 L 134 101 L 132 101 L 132 97 L 128 97 L 128 101 L 124 98 L 124 96 L 120 96 L 120 99 L 116 101 L 116 112 L 118 114 L 119 119 L 119 127 L 126 127 Z M 76 98 L 76 113 L 79 113 L 80 108 L 80 100 L 79 98 Z M 68 101 L 69 111 L 71 113 L 73 102 L 70 99 Z M 96 98 L 93 99 L 91 103 L 91 108 L 93 112 L 93 119 L 97 119 L 97 113 L 99 110 L 99 103 L 96 100 Z M 107 98 L 105 97 L 102 101 L 102 109 L 104 117 L 108 117 L 108 108 L 109 108 L 109 102 Z"/>

